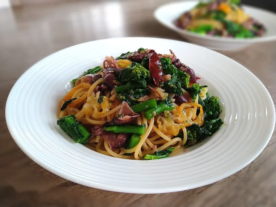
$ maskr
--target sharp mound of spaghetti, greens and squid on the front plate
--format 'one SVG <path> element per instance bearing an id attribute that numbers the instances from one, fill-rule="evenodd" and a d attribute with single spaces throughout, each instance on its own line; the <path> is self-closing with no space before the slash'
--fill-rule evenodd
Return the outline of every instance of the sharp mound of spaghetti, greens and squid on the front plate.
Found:
<path id="1" fill-rule="evenodd" d="M 170 53 L 139 48 L 106 56 L 103 66 L 72 80 L 57 124 L 92 150 L 136 160 L 179 154 L 211 136 L 223 124 L 218 97 Z"/>

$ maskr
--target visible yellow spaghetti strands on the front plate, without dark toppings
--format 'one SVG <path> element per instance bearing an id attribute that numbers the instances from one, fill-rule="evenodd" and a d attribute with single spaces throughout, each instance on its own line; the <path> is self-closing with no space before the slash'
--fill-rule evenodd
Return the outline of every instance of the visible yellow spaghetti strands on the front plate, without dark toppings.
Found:
<path id="1" fill-rule="evenodd" d="M 98 73 L 101 74 L 101 72 Z M 89 124 L 93 128 L 96 125 L 103 125 L 111 121 L 114 117 L 118 117 L 122 104 L 117 100 L 117 94 L 114 89 L 108 91 L 102 102 L 98 103 L 100 92 L 94 93 L 93 91 L 101 83 L 104 83 L 103 78 L 98 79 L 93 85 L 81 83 L 71 89 L 60 102 L 60 107 L 66 100 L 77 99 L 60 112 L 60 118 L 74 114 L 76 119 L 82 124 Z M 164 91 L 158 87 L 155 89 L 161 92 Z M 199 96 L 202 100 L 206 99 L 207 91 L 207 88 L 203 88 L 200 91 Z M 168 93 L 163 92 L 162 95 L 166 96 Z M 153 97 L 158 100 L 157 94 L 153 94 Z M 172 101 L 174 101 L 173 97 Z M 174 103 L 174 105 L 175 109 L 171 112 L 165 111 L 150 120 L 146 120 L 143 112 L 140 113 L 140 116 L 137 117 L 137 124 L 145 124 L 146 133 L 141 135 L 140 142 L 132 149 L 122 147 L 112 151 L 102 136 L 92 137 L 86 146 L 108 156 L 136 160 L 141 160 L 146 154 L 154 154 L 156 151 L 165 150 L 169 147 L 175 147 L 170 156 L 184 152 L 185 147 L 183 145 L 187 141 L 186 127 L 193 123 L 199 126 L 202 125 L 204 121 L 203 109 L 198 104 L 198 96 L 194 103 L 183 103 L 181 106 Z M 196 113 L 197 109 L 200 109 L 198 115 Z M 180 130 L 183 130 L 184 137 L 177 136 Z M 124 155 L 125 153 L 130 155 Z"/>

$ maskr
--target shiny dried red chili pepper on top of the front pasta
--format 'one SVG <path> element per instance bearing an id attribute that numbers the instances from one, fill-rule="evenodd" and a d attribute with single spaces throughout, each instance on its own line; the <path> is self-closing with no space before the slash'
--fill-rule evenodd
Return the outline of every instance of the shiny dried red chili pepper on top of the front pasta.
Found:
<path id="1" fill-rule="evenodd" d="M 150 60 L 150 75 L 154 84 L 160 87 L 159 83 L 164 83 L 164 73 L 160 58 L 154 50 L 150 50 L 148 56 Z"/>

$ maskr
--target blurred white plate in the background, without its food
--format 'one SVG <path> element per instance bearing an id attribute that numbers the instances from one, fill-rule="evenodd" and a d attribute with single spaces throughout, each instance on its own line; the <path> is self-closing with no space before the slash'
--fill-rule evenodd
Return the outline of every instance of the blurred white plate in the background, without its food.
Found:
<path id="1" fill-rule="evenodd" d="M 173 21 L 179 18 L 185 11 L 192 9 L 199 1 L 182 1 L 162 5 L 154 12 L 158 22 L 167 28 L 179 33 L 182 37 L 191 43 L 218 50 L 237 50 L 252 45 L 256 42 L 268 42 L 276 40 L 276 14 L 252 6 L 243 5 L 244 11 L 253 18 L 260 21 L 267 28 L 263 37 L 250 39 L 235 39 L 226 37 L 212 37 L 209 35 L 200 35 L 194 32 L 183 30 L 174 25 Z"/>

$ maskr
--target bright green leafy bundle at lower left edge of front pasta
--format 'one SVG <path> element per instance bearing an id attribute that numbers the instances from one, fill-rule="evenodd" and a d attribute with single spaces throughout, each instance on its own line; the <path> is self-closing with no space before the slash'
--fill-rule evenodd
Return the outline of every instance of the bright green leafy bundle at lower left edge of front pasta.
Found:
<path id="1" fill-rule="evenodd" d="M 59 125 L 63 131 L 69 134 L 75 142 L 86 144 L 90 133 L 78 122 L 75 115 L 71 114 L 64 116 L 57 120 L 57 125 Z"/>

